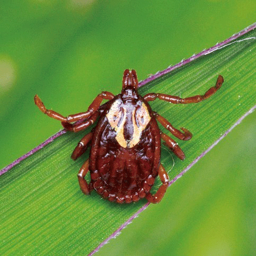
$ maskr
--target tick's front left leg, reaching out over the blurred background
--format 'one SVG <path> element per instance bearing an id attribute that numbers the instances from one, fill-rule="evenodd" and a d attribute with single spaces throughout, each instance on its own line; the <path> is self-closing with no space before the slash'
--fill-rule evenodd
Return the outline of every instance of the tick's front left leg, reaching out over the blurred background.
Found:
<path id="1" fill-rule="evenodd" d="M 114 98 L 114 95 L 110 92 L 102 92 L 92 102 L 92 104 L 89 106 L 88 110 L 86 112 L 77 113 L 77 114 L 70 114 L 68 117 L 61 116 L 61 114 L 46 109 L 45 105 L 42 103 L 41 99 L 38 95 L 34 96 L 34 103 L 37 105 L 37 107 L 47 116 L 52 117 L 54 119 L 57 119 L 61 122 L 75 122 L 77 120 L 86 119 L 93 115 L 95 111 L 97 111 L 100 107 L 100 104 L 103 100 L 111 100 Z"/>

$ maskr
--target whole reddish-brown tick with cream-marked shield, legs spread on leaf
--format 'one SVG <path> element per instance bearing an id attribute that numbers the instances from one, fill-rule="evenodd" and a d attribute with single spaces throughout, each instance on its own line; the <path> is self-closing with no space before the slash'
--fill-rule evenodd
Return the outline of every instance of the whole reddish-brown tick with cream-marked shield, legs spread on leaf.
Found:
<path id="1" fill-rule="evenodd" d="M 204 95 L 184 99 L 162 93 L 141 96 L 138 94 L 135 70 L 126 69 L 121 93 L 116 96 L 110 92 L 100 93 L 86 112 L 63 117 L 46 109 L 38 95 L 34 96 L 34 103 L 43 113 L 61 121 L 66 130 L 74 133 L 86 129 L 99 118 L 96 126 L 80 140 L 71 156 L 76 160 L 91 145 L 89 160 L 78 172 L 78 182 L 85 195 L 95 189 L 109 201 L 129 203 L 146 198 L 149 202 L 157 203 L 163 198 L 169 184 L 169 176 L 160 163 L 161 139 L 181 160 L 185 158 L 178 144 L 158 128 L 157 121 L 176 138 L 189 140 L 192 134 L 185 128 L 181 128 L 183 132 L 174 128 L 169 121 L 154 112 L 148 102 L 158 98 L 173 104 L 197 103 L 213 95 L 223 82 L 223 77 L 219 75 L 216 85 Z M 101 105 L 103 100 L 108 102 Z M 89 171 L 91 181 L 88 184 L 84 178 Z M 157 175 L 162 185 L 152 195 L 150 190 Z"/>

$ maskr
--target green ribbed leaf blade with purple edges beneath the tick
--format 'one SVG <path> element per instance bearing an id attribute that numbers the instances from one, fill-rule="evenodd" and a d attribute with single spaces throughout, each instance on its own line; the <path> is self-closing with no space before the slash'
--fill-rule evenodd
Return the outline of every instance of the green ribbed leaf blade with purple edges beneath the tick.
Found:
<path id="1" fill-rule="evenodd" d="M 255 38 L 254 29 L 140 88 L 142 95 L 158 92 L 185 98 L 204 94 L 215 85 L 218 74 L 225 79 L 215 95 L 198 104 L 151 103 L 174 127 L 186 127 L 193 133 L 190 141 L 179 141 L 186 160 L 180 161 L 167 149 L 162 151 L 161 162 L 170 179 L 194 163 L 255 105 Z M 42 122 L 43 118 L 47 117 L 42 116 Z M 2 254 L 90 253 L 143 209 L 145 199 L 118 205 L 95 191 L 83 195 L 76 175 L 89 154 L 75 162 L 70 154 L 88 131 L 55 138 L 1 175 Z"/>

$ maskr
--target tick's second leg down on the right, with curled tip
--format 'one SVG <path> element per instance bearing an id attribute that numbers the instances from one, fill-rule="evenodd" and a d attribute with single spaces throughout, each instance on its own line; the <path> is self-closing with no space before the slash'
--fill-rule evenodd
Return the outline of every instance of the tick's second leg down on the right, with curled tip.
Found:
<path id="1" fill-rule="evenodd" d="M 156 120 L 158 122 L 161 123 L 161 125 L 166 129 L 169 130 L 175 137 L 177 137 L 178 139 L 182 139 L 182 140 L 189 140 L 192 138 L 192 134 L 190 133 L 189 130 L 187 130 L 184 127 L 181 127 L 181 130 L 184 131 L 184 133 L 182 133 L 180 130 L 174 128 L 171 123 L 169 121 L 167 121 L 165 118 L 163 118 L 162 116 L 160 116 L 160 114 L 154 112 L 154 116 L 156 118 Z"/>

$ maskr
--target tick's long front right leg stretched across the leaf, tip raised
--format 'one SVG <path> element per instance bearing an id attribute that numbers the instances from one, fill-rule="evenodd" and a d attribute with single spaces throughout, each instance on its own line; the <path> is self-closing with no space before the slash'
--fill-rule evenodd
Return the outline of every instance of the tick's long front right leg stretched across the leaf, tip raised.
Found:
<path id="1" fill-rule="evenodd" d="M 211 95 L 213 95 L 223 84 L 224 78 L 219 75 L 217 78 L 216 85 L 210 87 L 210 89 L 204 95 L 196 95 L 189 98 L 180 98 L 178 96 L 162 94 L 162 93 L 148 93 L 143 98 L 146 101 L 154 101 L 156 98 L 160 100 L 164 100 L 167 102 L 171 102 L 174 104 L 188 104 L 188 103 L 197 103 L 203 100 L 208 99 Z"/>

